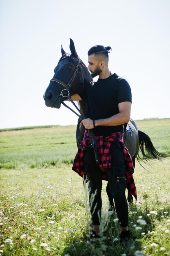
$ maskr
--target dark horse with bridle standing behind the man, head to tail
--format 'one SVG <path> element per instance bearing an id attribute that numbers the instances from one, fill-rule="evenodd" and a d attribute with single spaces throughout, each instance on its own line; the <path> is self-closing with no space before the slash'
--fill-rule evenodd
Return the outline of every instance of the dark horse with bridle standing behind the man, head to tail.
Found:
<path id="1" fill-rule="evenodd" d="M 47 107 L 60 108 L 61 103 L 64 104 L 66 99 L 72 103 L 71 96 L 84 90 L 87 83 L 94 83 L 90 72 L 86 65 L 79 58 L 73 40 L 70 38 L 70 51 L 66 53 L 61 46 L 62 56 L 54 69 L 54 76 L 44 92 L 44 100 Z M 74 104 L 75 105 L 75 104 Z M 67 106 L 64 104 L 64 106 Z M 69 108 L 69 107 L 68 107 Z M 76 107 L 77 108 L 77 107 Z M 71 108 L 69 108 L 71 109 Z M 72 109 L 71 109 L 72 110 Z M 79 101 L 77 110 L 86 118 L 86 101 Z M 73 111 L 73 110 L 72 110 Z M 76 113 L 77 115 L 77 113 Z M 79 121 L 81 121 L 81 115 Z M 76 141 L 79 147 L 85 128 L 78 121 Z M 152 144 L 152 141 L 146 133 L 138 130 L 137 124 L 133 119 L 130 119 L 128 124 L 125 124 L 126 132 L 124 135 L 124 143 L 132 157 L 133 166 L 135 168 L 135 159 L 141 161 L 149 161 L 151 159 L 163 159 L 167 155 L 159 153 Z M 113 197 L 110 194 L 109 185 L 106 186 L 106 192 L 110 202 L 110 207 L 114 209 Z M 132 202 L 132 195 L 128 192 L 128 202 Z"/>

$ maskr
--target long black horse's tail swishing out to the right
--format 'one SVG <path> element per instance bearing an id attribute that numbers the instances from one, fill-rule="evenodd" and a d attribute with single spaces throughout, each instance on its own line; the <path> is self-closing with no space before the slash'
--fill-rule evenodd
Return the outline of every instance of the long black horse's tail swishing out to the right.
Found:
<path id="1" fill-rule="evenodd" d="M 153 146 L 152 141 L 150 137 L 144 133 L 138 130 L 138 135 L 139 135 L 139 151 L 137 154 L 137 161 L 149 161 L 152 159 L 158 159 L 161 160 L 163 158 L 168 157 L 166 154 L 162 154 L 156 150 L 156 148 Z M 139 154 L 140 152 L 142 153 L 141 157 Z"/>

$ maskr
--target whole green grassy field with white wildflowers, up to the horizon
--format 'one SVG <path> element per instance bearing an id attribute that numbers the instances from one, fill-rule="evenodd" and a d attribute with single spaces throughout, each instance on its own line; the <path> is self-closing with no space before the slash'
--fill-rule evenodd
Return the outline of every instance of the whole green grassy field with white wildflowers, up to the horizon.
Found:
<path id="1" fill-rule="evenodd" d="M 170 153 L 170 119 L 137 125 L 159 152 Z M 71 170 L 76 151 L 75 126 L 0 132 L 0 254 L 170 255 L 170 159 L 142 164 L 148 171 L 137 163 L 138 202 L 129 206 L 135 247 L 121 248 L 117 216 L 108 212 L 106 182 L 102 238 L 88 243 L 88 189 Z"/>

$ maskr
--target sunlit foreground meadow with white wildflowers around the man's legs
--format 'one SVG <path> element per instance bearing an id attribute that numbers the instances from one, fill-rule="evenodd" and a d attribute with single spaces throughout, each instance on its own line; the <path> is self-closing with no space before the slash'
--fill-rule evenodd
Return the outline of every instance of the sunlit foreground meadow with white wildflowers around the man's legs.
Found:
<path id="1" fill-rule="evenodd" d="M 3 253 L 0 253 L 7 256 L 169 255 L 170 160 L 154 162 L 149 171 L 137 163 L 134 178 L 138 203 L 129 206 L 129 229 L 135 247 L 122 248 L 117 216 L 108 212 L 106 182 L 102 190 L 102 238 L 91 243 L 88 242 L 91 224 L 87 188 L 84 191 L 82 179 L 71 171 L 71 165 L 1 170 L 0 249 Z"/>

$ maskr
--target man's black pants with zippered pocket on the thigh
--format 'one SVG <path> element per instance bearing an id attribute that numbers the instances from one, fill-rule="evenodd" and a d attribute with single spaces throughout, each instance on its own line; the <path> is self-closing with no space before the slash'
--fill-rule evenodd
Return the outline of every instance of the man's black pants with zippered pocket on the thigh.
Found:
<path id="1" fill-rule="evenodd" d="M 121 144 L 112 142 L 110 146 L 111 168 L 107 169 L 110 192 L 115 201 L 117 217 L 121 227 L 128 226 L 128 203 L 125 196 L 126 190 L 126 167 Z M 100 225 L 102 211 L 102 170 L 95 163 L 93 149 L 85 150 L 84 167 L 90 180 L 89 204 L 93 225 Z"/>

